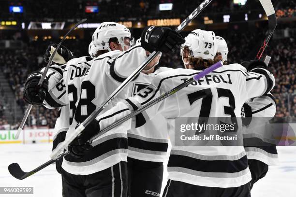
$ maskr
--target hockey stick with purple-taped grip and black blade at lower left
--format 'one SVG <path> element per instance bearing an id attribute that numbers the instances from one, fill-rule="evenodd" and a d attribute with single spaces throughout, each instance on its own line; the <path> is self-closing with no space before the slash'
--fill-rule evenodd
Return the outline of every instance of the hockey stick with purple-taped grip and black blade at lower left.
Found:
<path id="1" fill-rule="evenodd" d="M 177 87 L 175 87 L 174 89 L 172 89 L 172 90 L 164 93 L 162 96 L 158 97 L 157 99 L 154 99 L 154 100 L 148 102 L 146 105 L 143 105 L 141 108 L 137 109 L 133 113 L 130 113 L 129 115 L 121 118 L 114 125 L 111 125 L 109 127 L 106 127 L 105 129 L 103 129 L 102 131 L 100 131 L 98 134 L 94 135 L 89 141 L 93 141 L 94 139 L 96 139 L 97 137 L 103 135 L 104 133 L 106 133 L 110 129 L 112 129 L 114 127 L 117 127 L 118 125 L 120 125 L 121 123 L 125 122 L 126 120 L 132 118 L 133 116 L 137 115 L 138 113 L 141 113 L 141 112 L 145 111 L 146 109 L 148 109 L 152 105 L 155 105 L 156 103 L 162 101 L 163 99 L 165 99 L 165 98 L 167 98 L 167 97 L 175 94 L 179 90 L 181 90 L 184 87 L 190 85 L 193 81 L 199 80 L 200 78 L 204 77 L 208 73 L 210 73 L 213 70 L 216 70 L 216 69 L 218 69 L 219 67 L 222 67 L 222 66 L 223 66 L 222 61 L 219 61 L 216 64 L 214 64 L 214 65 L 210 66 L 209 68 L 207 68 L 206 70 L 201 71 L 200 73 L 194 75 L 191 79 L 187 80 L 183 84 L 178 85 Z M 12 176 L 14 176 L 16 179 L 23 180 L 23 179 L 25 179 L 25 178 L 27 178 L 27 177 L 35 174 L 36 172 L 40 171 L 41 169 L 44 169 L 46 166 L 54 163 L 59 158 L 61 158 L 63 156 L 66 156 L 66 155 L 69 155 L 69 154 L 70 154 L 69 151 L 65 151 L 64 153 L 62 153 L 61 155 L 59 155 L 55 160 L 51 159 L 51 160 L 47 161 L 46 163 L 44 163 L 43 165 L 39 166 L 38 168 L 31 170 L 30 172 L 24 172 L 17 163 L 10 164 L 8 166 L 8 170 L 9 170 L 9 173 Z"/>

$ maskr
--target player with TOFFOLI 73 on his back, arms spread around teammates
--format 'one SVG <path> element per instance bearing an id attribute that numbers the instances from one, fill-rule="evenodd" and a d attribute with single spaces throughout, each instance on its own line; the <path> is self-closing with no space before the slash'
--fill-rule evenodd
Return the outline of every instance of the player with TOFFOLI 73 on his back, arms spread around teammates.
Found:
<path id="1" fill-rule="evenodd" d="M 149 32 L 144 31 L 141 43 L 146 50 L 149 50 L 150 39 Z M 185 40 L 182 59 L 191 70 L 176 69 L 157 74 L 151 86 L 99 115 L 85 132 L 104 129 L 214 61 L 217 48 L 214 48 L 213 32 L 194 30 Z M 174 120 L 183 117 L 186 122 L 190 116 L 239 117 L 246 99 L 264 95 L 273 86 L 274 77 L 266 70 L 264 62 L 247 68 L 232 64 L 213 71 L 142 113 L 146 118 L 161 113 L 168 123 L 172 150 L 168 162 L 169 181 L 163 197 L 250 196 L 251 173 L 243 146 L 178 146 L 175 144 L 178 130 L 174 131 Z M 139 118 L 128 120 L 120 127 L 130 129 L 137 123 Z M 238 130 L 241 129 L 241 122 L 237 121 L 237 124 Z"/>

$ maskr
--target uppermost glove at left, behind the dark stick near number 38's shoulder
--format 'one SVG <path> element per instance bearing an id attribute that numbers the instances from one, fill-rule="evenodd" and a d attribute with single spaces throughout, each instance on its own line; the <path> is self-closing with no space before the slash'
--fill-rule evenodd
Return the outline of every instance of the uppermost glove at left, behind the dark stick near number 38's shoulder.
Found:
<path id="1" fill-rule="evenodd" d="M 55 51 L 58 44 L 50 44 L 48 45 L 45 54 L 44 54 L 44 61 L 48 63 L 51 54 Z M 56 55 L 53 58 L 53 62 L 56 64 L 65 64 L 69 60 L 76 58 L 73 53 L 67 49 L 65 46 L 60 45 Z"/>

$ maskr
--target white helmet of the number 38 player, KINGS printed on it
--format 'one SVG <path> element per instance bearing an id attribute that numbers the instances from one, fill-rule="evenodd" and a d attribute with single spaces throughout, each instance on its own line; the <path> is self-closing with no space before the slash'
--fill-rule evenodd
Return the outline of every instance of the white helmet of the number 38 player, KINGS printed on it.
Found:
<path id="1" fill-rule="evenodd" d="M 92 42 L 94 43 L 96 50 L 108 50 L 111 51 L 109 46 L 110 38 L 117 38 L 118 43 L 124 50 L 124 39 L 131 38 L 131 32 L 124 25 L 115 22 L 104 22 L 95 30 L 92 34 Z"/>

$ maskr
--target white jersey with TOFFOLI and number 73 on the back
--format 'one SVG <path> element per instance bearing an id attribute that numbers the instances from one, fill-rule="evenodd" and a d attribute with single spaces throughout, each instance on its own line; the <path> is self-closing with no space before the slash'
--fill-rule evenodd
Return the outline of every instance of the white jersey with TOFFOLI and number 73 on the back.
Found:
<path id="1" fill-rule="evenodd" d="M 141 107 L 198 72 L 185 69 L 161 72 L 151 86 L 99 115 L 96 119 L 101 129 L 129 114 L 134 110 L 133 105 Z M 251 173 L 243 145 L 178 146 L 175 144 L 175 119 L 184 117 L 188 120 L 198 116 L 240 117 L 246 99 L 262 96 L 273 86 L 274 77 L 267 70 L 257 68 L 247 72 L 241 65 L 231 64 L 209 73 L 142 113 L 143 117 L 150 118 L 155 113 L 161 113 L 168 122 L 172 142 L 168 178 L 207 187 L 238 187 L 250 182 Z M 136 118 L 133 118 L 120 127 L 130 129 L 134 121 L 137 124 Z M 241 130 L 241 121 L 237 124 Z"/>

